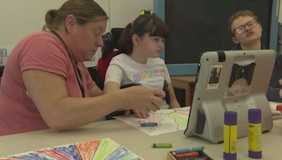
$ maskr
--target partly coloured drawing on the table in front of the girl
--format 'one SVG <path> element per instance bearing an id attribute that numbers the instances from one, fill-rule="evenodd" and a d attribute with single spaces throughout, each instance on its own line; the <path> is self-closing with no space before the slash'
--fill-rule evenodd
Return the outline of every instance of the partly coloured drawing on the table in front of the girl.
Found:
<path id="1" fill-rule="evenodd" d="M 189 115 L 190 107 L 177 109 L 161 109 L 157 112 L 150 112 L 147 119 L 137 119 L 132 116 L 115 116 L 114 118 L 129 124 L 148 135 L 160 135 L 176 131 L 184 131 Z M 157 126 L 141 127 L 140 124 L 157 123 Z"/>

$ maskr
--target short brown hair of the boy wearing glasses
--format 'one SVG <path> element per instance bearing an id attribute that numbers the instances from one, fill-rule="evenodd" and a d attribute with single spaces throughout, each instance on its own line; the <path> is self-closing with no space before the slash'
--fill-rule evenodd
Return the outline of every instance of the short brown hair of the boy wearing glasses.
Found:
<path id="1" fill-rule="evenodd" d="M 234 22 L 235 19 L 237 19 L 238 17 L 245 17 L 245 16 L 249 16 L 251 18 L 255 18 L 257 20 L 257 22 L 259 23 L 259 19 L 257 18 L 257 16 L 252 13 L 252 11 L 249 10 L 245 10 L 245 11 L 238 11 L 235 14 L 231 15 L 231 17 L 228 20 L 228 35 L 231 38 L 232 36 L 234 36 L 233 31 L 231 31 L 231 25 Z"/>

